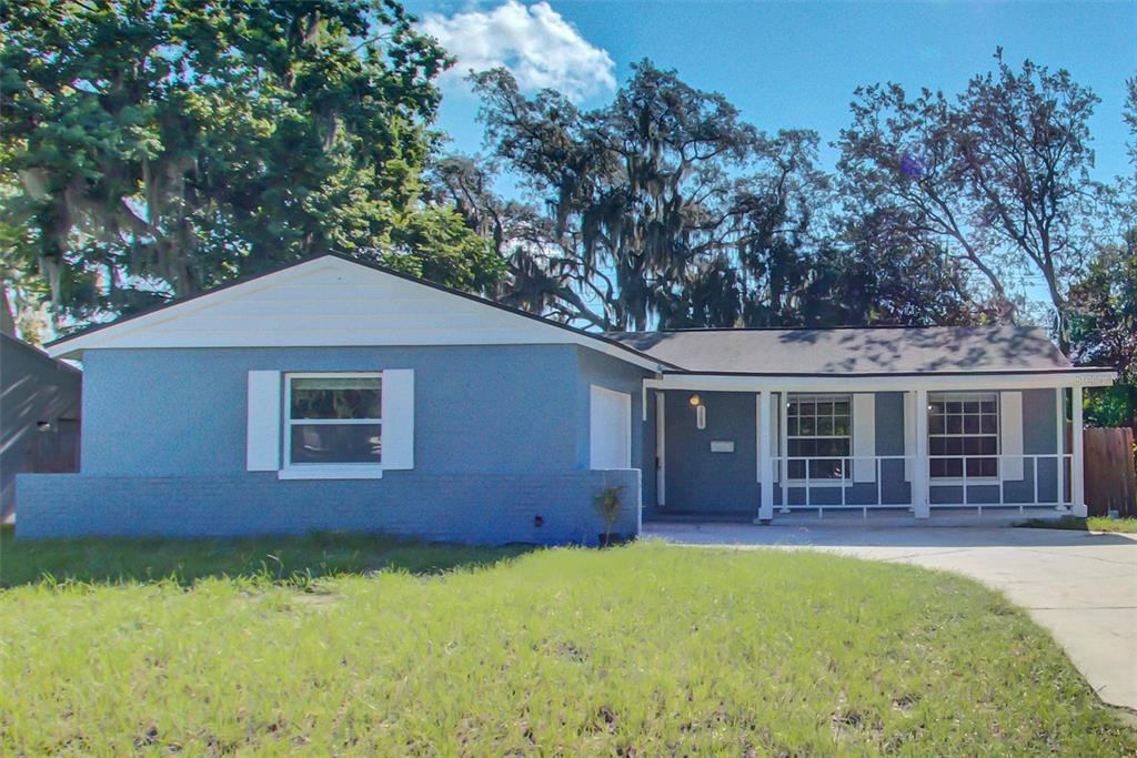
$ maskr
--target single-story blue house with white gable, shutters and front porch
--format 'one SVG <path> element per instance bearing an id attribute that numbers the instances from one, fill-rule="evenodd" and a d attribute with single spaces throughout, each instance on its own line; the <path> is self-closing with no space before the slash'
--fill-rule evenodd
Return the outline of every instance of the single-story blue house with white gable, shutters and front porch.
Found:
<path id="1" fill-rule="evenodd" d="M 83 466 L 20 477 L 22 536 L 595 542 L 609 486 L 622 533 L 1081 513 L 1082 388 L 1113 378 L 1034 328 L 598 334 L 337 256 L 49 349 L 84 365 Z"/>

